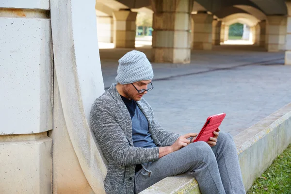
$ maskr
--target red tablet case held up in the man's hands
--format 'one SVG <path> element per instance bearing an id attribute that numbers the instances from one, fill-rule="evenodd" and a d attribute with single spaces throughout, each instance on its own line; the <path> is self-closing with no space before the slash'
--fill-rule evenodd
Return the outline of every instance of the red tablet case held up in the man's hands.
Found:
<path id="1" fill-rule="evenodd" d="M 194 142 L 208 142 L 210 137 L 214 137 L 213 131 L 215 131 L 220 126 L 225 117 L 226 113 L 215 114 L 208 117 Z"/>

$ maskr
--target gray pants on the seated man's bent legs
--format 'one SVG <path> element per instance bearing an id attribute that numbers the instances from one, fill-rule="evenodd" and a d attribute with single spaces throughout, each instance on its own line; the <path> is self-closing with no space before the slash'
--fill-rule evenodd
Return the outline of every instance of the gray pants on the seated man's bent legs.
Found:
<path id="1" fill-rule="evenodd" d="M 237 149 L 228 133 L 220 132 L 216 146 L 195 142 L 156 162 L 143 164 L 135 174 L 135 193 L 163 178 L 191 173 L 202 194 L 245 194 Z"/>

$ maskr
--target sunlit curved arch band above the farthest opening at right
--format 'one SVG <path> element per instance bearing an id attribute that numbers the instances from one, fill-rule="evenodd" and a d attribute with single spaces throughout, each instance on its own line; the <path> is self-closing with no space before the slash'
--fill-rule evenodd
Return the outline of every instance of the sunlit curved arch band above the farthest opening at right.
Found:
<path id="1" fill-rule="evenodd" d="M 232 15 L 226 16 L 222 19 L 222 21 L 227 26 L 238 22 L 238 23 L 245 23 L 248 26 L 252 27 L 252 26 L 257 25 L 257 23 L 259 22 L 259 19 L 250 14 L 238 13 L 238 14 L 232 14 Z"/>

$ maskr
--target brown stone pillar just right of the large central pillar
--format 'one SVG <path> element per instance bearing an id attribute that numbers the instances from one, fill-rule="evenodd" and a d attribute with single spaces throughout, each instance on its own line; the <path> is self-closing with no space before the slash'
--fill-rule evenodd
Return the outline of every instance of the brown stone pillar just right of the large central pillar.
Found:
<path id="1" fill-rule="evenodd" d="M 212 21 L 213 15 L 198 12 L 192 15 L 193 45 L 192 49 L 212 49 Z"/>

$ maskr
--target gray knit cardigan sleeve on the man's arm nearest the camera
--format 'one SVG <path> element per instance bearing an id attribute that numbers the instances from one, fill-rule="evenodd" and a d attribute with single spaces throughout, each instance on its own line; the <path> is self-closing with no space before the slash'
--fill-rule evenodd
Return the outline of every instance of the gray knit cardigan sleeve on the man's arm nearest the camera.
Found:
<path id="1" fill-rule="evenodd" d="M 129 145 L 125 133 L 113 116 L 108 102 L 97 99 L 90 113 L 91 129 L 103 151 L 119 165 L 154 162 L 159 159 L 159 147 L 143 148 Z"/>

